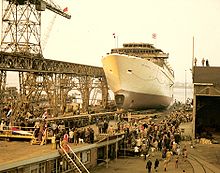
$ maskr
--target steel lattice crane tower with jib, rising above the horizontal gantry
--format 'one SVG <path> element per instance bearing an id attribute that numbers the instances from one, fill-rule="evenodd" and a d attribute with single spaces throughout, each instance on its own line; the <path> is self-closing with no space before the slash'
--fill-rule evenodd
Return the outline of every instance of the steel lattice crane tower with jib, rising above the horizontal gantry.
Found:
<path id="1" fill-rule="evenodd" d="M 42 54 L 41 12 L 71 16 L 53 0 L 3 0 L 1 51 Z"/>

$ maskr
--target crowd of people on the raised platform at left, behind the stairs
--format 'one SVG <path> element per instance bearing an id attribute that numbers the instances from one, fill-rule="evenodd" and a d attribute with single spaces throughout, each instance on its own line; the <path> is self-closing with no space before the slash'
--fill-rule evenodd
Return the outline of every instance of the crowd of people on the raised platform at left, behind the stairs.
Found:
<path id="1" fill-rule="evenodd" d="M 16 118 L 16 121 L 13 121 L 13 125 L 10 118 L 3 117 L 1 118 L 0 131 L 11 130 L 13 133 L 13 131 L 19 129 L 30 132 L 35 137 L 36 143 L 41 143 L 44 137 L 55 137 L 57 148 L 60 147 L 63 140 L 76 145 L 79 143 L 94 143 L 94 129 L 90 125 L 97 124 L 100 133 L 107 133 L 110 120 L 109 116 L 100 116 L 99 118 L 84 116 L 84 118 L 79 117 L 70 120 L 47 121 L 47 117 L 46 113 L 41 118 L 20 116 Z"/>

